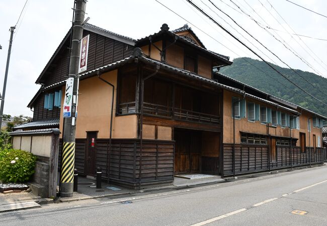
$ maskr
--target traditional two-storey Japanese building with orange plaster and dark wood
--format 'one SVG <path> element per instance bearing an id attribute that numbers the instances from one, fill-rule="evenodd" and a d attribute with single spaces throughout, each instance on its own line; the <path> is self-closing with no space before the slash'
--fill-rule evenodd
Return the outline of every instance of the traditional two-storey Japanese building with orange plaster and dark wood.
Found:
<path id="1" fill-rule="evenodd" d="M 219 73 L 229 57 L 207 50 L 187 25 L 134 40 L 86 24 L 75 168 L 131 187 L 174 175 L 222 177 L 322 162 L 322 120 L 296 104 Z M 36 83 L 33 122 L 63 130 L 67 33 Z M 92 141 L 95 145 L 92 145 Z"/>

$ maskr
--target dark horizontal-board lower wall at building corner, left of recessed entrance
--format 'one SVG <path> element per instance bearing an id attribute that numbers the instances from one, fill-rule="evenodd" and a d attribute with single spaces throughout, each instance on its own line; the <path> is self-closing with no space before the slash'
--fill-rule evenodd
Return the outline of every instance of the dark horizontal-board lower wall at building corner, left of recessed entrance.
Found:
<path id="1" fill-rule="evenodd" d="M 138 182 L 155 183 L 174 180 L 174 145 L 173 141 L 143 141 L 140 161 L 139 140 L 112 140 L 112 151 L 108 158 L 109 139 L 96 140 L 97 167 L 107 175 L 110 168 L 110 180 L 137 186 Z M 140 173 L 141 164 L 141 173 Z"/>

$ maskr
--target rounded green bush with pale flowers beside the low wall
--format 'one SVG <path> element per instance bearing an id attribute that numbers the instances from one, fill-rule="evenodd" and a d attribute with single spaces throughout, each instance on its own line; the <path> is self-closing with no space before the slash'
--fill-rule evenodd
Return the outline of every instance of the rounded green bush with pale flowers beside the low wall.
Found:
<path id="1" fill-rule="evenodd" d="M 17 149 L 0 151 L 0 181 L 25 182 L 34 173 L 36 157 L 29 152 Z"/>

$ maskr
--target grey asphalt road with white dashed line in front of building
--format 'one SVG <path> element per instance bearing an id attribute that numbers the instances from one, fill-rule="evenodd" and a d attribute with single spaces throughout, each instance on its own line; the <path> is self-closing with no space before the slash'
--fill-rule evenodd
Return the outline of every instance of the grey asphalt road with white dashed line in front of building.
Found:
<path id="1" fill-rule="evenodd" d="M 327 225 L 326 193 L 327 166 L 322 166 L 185 190 L 43 205 L 2 213 L 0 225 Z"/>

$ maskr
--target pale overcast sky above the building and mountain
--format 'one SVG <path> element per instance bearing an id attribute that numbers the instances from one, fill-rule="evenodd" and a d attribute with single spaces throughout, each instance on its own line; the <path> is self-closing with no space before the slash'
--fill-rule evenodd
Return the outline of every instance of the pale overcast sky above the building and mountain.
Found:
<path id="1" fill-rule="evenodd" d="M 91 18 L 90 24 L 134 39 L 158 32 L 163 23 L 167 23 L 171 30 L 188 24 L 207 49 L 230 56 L 231 60 L 237 57 L 258 59 L 186 0 L 158 1 L 184 19 L 155 0 L 89 0 L 86 17 Z M 16 25 L 25 2 L 26 0 L 11 0 L 2 1 L 0 4 L 0 45 L 3 47 L 0 50 L 1 93 L 9 47 L 9 28 Z M 193 3 L 265 60 L 287 67 L 267 50 L 269 49 L 294 69 L 327 77 L 325 57 L 327 41 L 306 37 L 299 39 L 298 36 L 289 34 L 327 39 L 327 18 L 285 0 L 211 0 L 211 2 L 258 39 L 262 45 L 208 0 L 193 0 Z M 327 15 L 327 1 L 292 0 L 292 2 Z M 28 0 L 14 34 L 4 114 L 33 116 L 33 112 L 26 106 L 40 88 L 40 85 L 35 84 L 37 77 L 71 26 L 72 7 L 73 0 Z"/>

